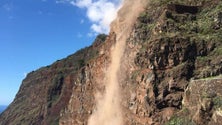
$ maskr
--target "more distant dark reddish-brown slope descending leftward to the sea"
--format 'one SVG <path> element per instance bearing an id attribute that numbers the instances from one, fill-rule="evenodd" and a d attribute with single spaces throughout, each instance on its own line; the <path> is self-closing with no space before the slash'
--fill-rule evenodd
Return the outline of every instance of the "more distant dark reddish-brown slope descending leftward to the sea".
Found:
<path id="1" fill-rule="evenodd" d="M 51 66 L 33 71 L 23 80 L 14 101 L 0 116 L 1 125 L 58 124 L 60 111 L 70 100 L 76 78 L 83 81 L 84 66 L 97 58 L 106 35 Z"/>

